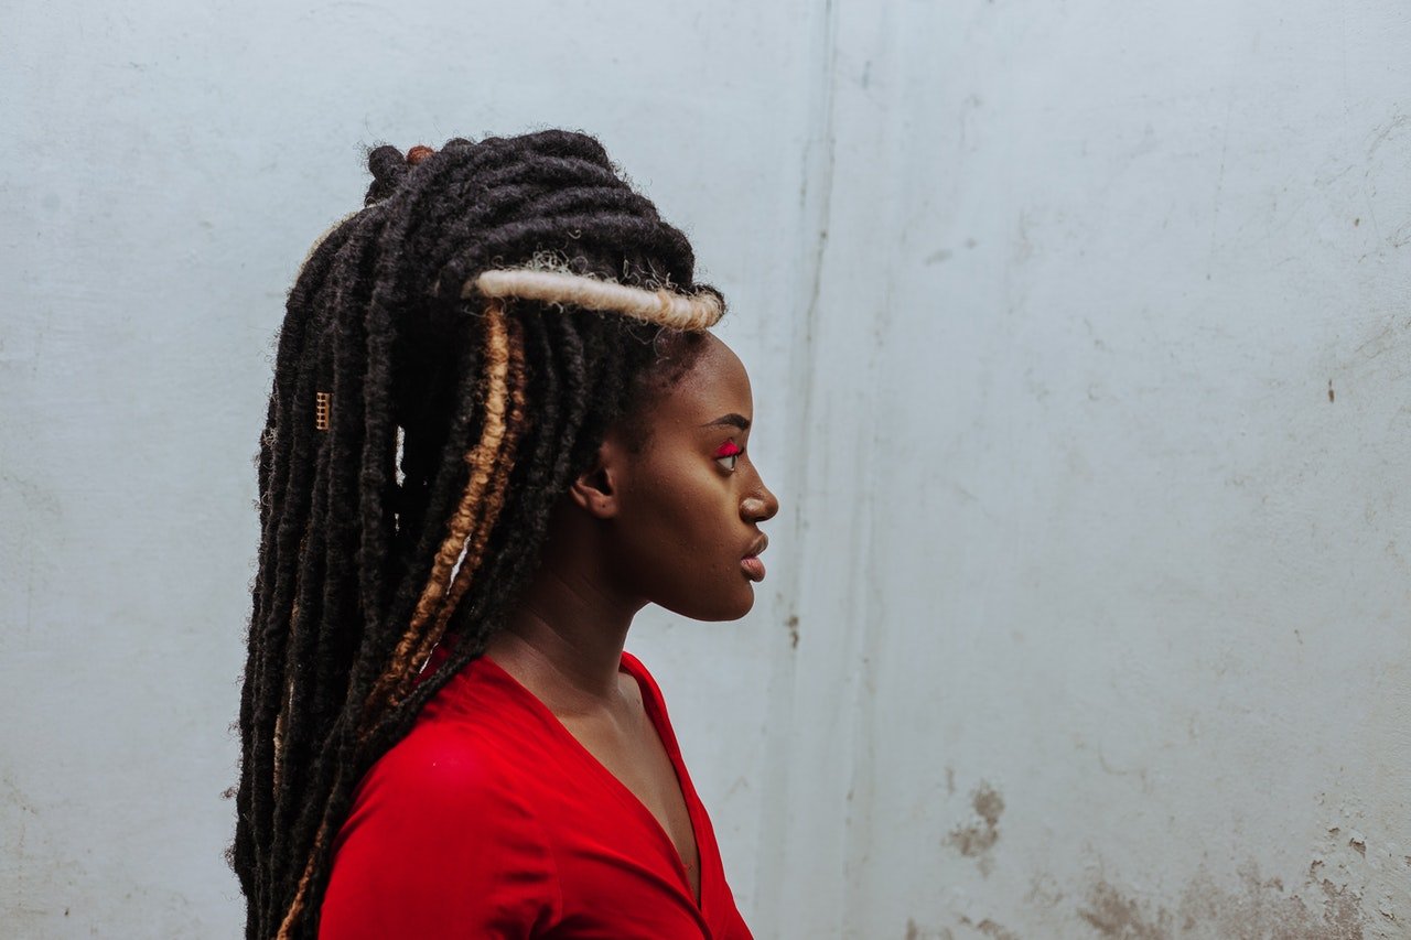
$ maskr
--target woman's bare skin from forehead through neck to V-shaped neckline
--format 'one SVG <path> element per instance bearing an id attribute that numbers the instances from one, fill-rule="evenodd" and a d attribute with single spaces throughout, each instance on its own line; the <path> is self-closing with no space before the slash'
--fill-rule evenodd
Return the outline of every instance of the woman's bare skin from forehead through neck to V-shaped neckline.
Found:
<path id="1" fill-rule="evenodd" d="M 708 336 L 690 368 L 646 398 L 556 508 L 539 572 L 487 655 L 656 817 L 698 902 L 686 802 L 642 690 L 619 672 L 622 646 L 648 604 L 744 617 L 763 577 L 759 524 L 779 501 L 749 462 L 753 398 L 728 346 Z"/>

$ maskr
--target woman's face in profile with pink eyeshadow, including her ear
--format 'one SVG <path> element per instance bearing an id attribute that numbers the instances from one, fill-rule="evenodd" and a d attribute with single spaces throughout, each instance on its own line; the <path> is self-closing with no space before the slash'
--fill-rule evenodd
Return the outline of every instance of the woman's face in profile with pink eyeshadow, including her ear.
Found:
<path id="1" fill-rule="evenodd" d="M 755 603 L 779 511 L 749 457 L 753 397 L 739 357 L 707 335 L 684 374 L 612 428 L 571 497 L 600 521 L 614 593 L 693 620 Z"/>

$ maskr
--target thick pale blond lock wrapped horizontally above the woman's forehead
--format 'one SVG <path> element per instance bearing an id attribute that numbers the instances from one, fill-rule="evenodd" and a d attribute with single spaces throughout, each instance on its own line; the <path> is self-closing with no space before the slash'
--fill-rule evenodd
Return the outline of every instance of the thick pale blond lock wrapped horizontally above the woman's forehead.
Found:
<path id="1" fill-rule="evenodd" d="M 532 268 L 498 268 L 467 281 L 461 296 L 480 292 L 488 298 L 518 296 L 546 303 L 571 303 L 590 311 L 612 311 L 648 323 L 679 330 L 704 330 L 725 313 L 714 291 L 677 294 L 600 281 L 583 274 Z"/>

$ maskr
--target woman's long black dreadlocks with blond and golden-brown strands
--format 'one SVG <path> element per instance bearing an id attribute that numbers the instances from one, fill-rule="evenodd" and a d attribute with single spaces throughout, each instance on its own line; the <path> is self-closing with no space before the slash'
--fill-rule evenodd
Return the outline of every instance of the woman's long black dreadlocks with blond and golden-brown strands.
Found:
<path id="1" fill-rule="evenodd" d="M 289 294 L 260 446 L 231 848 L 250 940 L 316 934 L 358 781 L 484 651 L 663 350 L 721 312 L 591 137 L 368 167 Z"/>

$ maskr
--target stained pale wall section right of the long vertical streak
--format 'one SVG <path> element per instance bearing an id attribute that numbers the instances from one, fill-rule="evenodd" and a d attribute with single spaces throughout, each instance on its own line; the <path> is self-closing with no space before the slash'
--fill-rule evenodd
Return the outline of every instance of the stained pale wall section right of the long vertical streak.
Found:
<path id="1" fill-rule="evenodd" d="M 1411 16 L 834 16 L 776 923 L 1411 936 Z"/>

